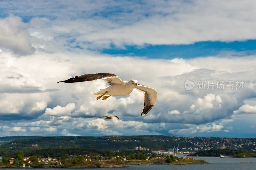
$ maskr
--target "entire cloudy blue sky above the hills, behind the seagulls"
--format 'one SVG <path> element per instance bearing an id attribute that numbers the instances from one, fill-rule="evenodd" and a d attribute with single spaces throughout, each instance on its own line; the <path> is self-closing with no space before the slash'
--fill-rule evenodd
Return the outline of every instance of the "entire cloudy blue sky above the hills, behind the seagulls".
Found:
<path id="1" fill-rule="evenodd" d="M 0 1 L 0 136 L 256 136 L 255 2 Z M 95 100 L 117 74 L 158 92 Z M 195 88 L 186 90 L 185 81 Z M 198 81 L 215 89 L 198 90 Z M 244 81 L 243 89 L 216 89 Z M 227 87 L 227 86 L 226 86 Z M 119 120 L 95 119 L 117 115 Z"/>

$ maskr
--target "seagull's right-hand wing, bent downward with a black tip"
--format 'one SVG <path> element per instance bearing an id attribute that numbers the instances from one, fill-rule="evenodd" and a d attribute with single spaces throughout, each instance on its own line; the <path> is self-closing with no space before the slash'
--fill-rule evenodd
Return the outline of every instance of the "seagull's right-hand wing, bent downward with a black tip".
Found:
<path id="1" fill-rule="evenodd" d="M 144 116 L 152 109 L 152 107 L 156 103 L 156 98 L 157 98 L 156 89 L 143 86 L 140 84 L 138 84 L 138 86 L 135 86 L 134 88 L 144 93 L 144 109 L 141 113 L 141 116 Z"/>

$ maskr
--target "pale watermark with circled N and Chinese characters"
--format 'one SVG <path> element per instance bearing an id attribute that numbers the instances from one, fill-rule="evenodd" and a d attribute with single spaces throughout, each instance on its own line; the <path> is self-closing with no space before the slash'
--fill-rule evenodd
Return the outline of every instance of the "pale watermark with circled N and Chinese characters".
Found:
<path id="1" fill-rule="evenodd" d="M 197 81 L 197 90 L 242 90 L 244 81 Z M 185 81 L 185 89 L 194 89 L 195 83 L 191 80 Z"/>

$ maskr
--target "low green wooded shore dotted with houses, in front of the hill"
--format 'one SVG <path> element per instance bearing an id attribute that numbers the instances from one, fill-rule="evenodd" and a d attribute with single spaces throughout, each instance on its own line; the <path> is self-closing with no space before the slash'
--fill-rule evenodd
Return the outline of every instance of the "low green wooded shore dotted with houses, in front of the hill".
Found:
<path id="1" fill-rule="evenodd" d="M 36 149 L 26 152 L 0 151 L 2 168 L 92 168 L 127 167 L 143 164 L 206 164 L 205 160 L 173 155 L 157 154 L 151 151 L 99 151 L 86 148 Z"/>

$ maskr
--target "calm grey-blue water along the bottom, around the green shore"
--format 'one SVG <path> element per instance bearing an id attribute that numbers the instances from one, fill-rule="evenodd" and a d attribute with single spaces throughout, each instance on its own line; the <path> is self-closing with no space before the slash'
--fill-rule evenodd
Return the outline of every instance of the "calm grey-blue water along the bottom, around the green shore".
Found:
<path id="1" fill-rule="evenodd" d="M 254 170 L 256 169 L 256 158 L 220 158 L 220 157 L 194 157 L 196 159 L 204 159 L 211 164 L 188 164 L 188 165 L 129 165 L 126 168 L 113 168 L 113 170 L 161 170 L 161 169 L 179 169 L 179 170 Z M 252 162 L 252 163 L 240 163 L 240 162 Z M 17 168 L 3 168 L 5 170 L 17 170 Z M 20 168 L 23 169 L 23 168 Z M 40 168 L 33 168 L 32 170 L 39 170 Z M 95 169 L 110 169 L 110 168 L 79 168 L 79 170 L 95 170 Z M 111 168 L 112 169 L 112 168 Z M 42 170 L 42 169 L 40 169 Z M 43 170 L 46 170 L 44 168 Z M 59 168 L 48 168 L 48 170 L 61 170 Z M 65 170 L 74 170 L 74 168 L 67 168 Z"/>

